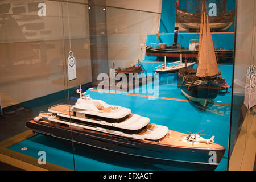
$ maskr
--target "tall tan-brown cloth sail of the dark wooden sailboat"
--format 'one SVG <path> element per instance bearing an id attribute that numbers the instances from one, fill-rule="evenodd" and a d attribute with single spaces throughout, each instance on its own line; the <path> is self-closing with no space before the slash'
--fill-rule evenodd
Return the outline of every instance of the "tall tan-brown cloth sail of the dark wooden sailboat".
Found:
<path id="1" fill-rule="evenodd" d="M 198 68 L 196 76 L 207 77 L 218 74 L 218 65 L 213 47 L 212 35 L 208 16 L 206 14 L 205 1 L 202 3 L 202 15 L 200 25 Z"/>

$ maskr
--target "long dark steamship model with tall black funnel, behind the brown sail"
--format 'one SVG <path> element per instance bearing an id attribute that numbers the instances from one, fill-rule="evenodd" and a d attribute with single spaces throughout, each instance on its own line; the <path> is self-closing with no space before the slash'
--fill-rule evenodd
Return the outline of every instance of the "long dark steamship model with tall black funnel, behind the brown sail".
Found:
<path id="1" fill-rule="evenodd" d="M 188 60 L 195 60 L 198 56 L 198 43 L 196 40 L 191 40 L 189 48 L 184 48 L 177 44 L 178 28 L 175 27 L 174 44 L 172 46 L 166 46 L 166 44 L 158 46 L 146 46 L 147 56 L 172 57 L 178 59 L 180 54 Z M 225 60 L 233 58 L 233 49 L 215 49 L 215 55 L 217 60 Z"/>

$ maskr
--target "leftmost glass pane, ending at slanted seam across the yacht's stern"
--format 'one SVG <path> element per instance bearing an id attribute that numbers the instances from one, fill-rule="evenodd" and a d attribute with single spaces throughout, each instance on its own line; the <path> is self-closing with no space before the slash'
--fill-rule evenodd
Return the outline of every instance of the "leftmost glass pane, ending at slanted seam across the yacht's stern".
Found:
<path id="1" fill-rule="evenodd" d="M 61 3 L 1 1 L 0 7 L 1 154 L 36 169 L 73 169 L 71 143 L 53 138 L 47 119 L 49 107 L 68 103 Z"/>

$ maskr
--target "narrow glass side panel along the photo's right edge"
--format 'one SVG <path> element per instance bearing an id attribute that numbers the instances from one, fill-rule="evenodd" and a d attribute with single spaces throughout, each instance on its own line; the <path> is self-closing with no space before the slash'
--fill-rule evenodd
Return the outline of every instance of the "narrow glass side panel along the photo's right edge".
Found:
<path id="1" fill-rule="evenodd" d="M 255 154 L 251 154 L 253 149 L 250 148 L 254 143 L 251 140 L 251 135 L 255 130 L 253 125 L 255 107 L 248 110 L 246 102 L 244 102 L 245 88 L 249 81 L 246 75 L 247 70 L 248 67 L 251 69 L 251 66 L 255 65 L 255 8 L 256 3 L 254 1 L 238 1 L 237 3 L 236 59 L 234 62 L 229 170 L 253 170 L 255 158 Z"/>

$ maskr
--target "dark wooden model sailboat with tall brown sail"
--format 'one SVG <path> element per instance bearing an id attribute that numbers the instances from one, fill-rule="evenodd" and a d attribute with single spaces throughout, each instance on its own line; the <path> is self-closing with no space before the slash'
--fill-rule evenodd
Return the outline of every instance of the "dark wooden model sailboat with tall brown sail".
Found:
<path id="1" fill-rule="evenodd" d="M 189 100 L 200 102 L 203 106 L 207 102 L 212 102 L 220 90 L 228 90 L 229 87 L 218 71 L 205 4 L 204 0 L 200 24 L 198 68 L 195 70 L 185 67 L 178 73 L 181 92 Z"/>

